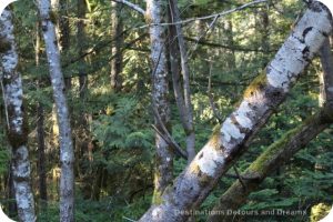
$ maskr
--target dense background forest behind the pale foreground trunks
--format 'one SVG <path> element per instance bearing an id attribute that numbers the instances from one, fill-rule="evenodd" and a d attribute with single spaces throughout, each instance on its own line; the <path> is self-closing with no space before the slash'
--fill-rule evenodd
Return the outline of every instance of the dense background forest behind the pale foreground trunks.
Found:
<path id="1" fill-rule="evenodd" d="M 154 169 L 161 163 L 157 158 L 155 138 L 170 140 L 163 144 L 170 149 L 170 158 L 174 157 L 173 165 L 169 168 L 173 171 L 169 173 L 171 176 L 179 175 L 188 164 L 178 151 L 179 147 L 182 154 L 189 154 L 185 148 L 191 147 L 189 138 L 195 132 L 195 150 L 199 152 L 213 133 L 212 129 L 240 104 L 245 88 L 264 71 L 306 8 L 303 1 L 272 0 L 225 17 L 192 20 L 251 1 L 148 1 L 162 2 L 161 22 L 190 19 L 182 26 L 162 27 L 161 37 L 161 37 L 157 39 L 165 51 L 163 56 L 157 54 L 155 60 L 165 60 L 163 69 L 167 73 L 164 71 L 162 78 L 167 78 L 165 84 L 169 84 L 163 95 L 170 107 L 170 117 L 167 118 L 168 113 L 164 117 L 162 110 L 151 102 L 155 91 L 161 90 L 154 84 L 158 70 L 150 59 L 155 43 L 151 32 L 157 27 L 149 27 L 148 23 L 154 22 L 153 18 L 142 14 L 150 9 L 144 1 L 130 2 L 143 11 L 113 1 L 59 0 L 52 1 L 54 8 L 47 14 L 57 28 L 57 46 L 65 82 L 63 92 L 69 104 L 75 157 L 77 221 L 139 220 L 151 205 L 152 195 L 159 203 L 161 199 L 157 198 L 159 191 L 154 192 L 154 179 L 162 170 Z M 178 2 L 179 18 L 175 8 L 168 7 L 168 3 L 172 6 L 174 2 Z M 40 23 L 41 14 L 33 1 L 28 0 L 13 3 L 11 10 L 29 123 L 28 147 L 36 211 L 39 221 L 59 221 L 61 144 L 58 139 L 63 132 L 57 124 L 48 50 L 41 38 L 44 31 Z M 180 27 L 182 30 L 179 30 Z M 183 36 L 185 47 L 180 36 Z M 185 53 L 181 54 L 182 50 Z M 188 61 L 180 56 L 188 57 Z M 312 60 L 285 102 L 274 110 L 235 168 L 230 168 L 226 175 L 216 182 L 200 210 L 213 209 L 231 184 L 240 183 L 236 182 L 239 173 L 243 174 L 272 143 L 320 110 L 322 62 L 319 57 Z M 190 90 L 186 89 L 186 74 L 184 78 L 186 64 Z M 182 104 L 181 100 L 189 100 L 186 90 L 191 91 L 192 107 L 189 102 Z M 155 102 L 161 102 L 160 98 Z M 16 218 L 11 149 L 6 135 L 3 100 L 0 104 L 3 125 L 0 132 L 1 204 L 9 215 Z M 182 107 L 184 111 L 181 111 Z M 182 114 L 189 113 L 191 108 L 192 128 L 186 124 L 191 117 Z M 160 118 L 167 118 L 162 121 L 164 125 L 157 120 L 159 117 L 154 110 Z M 152 128 L 152 124 L 155 127 Z M 268 215 L 264 219 L 314 220 L 321 214 L 317 209 L 325 211 L 332 205 L 332 129 L 327 127 L 287 164 L 275 167 L 273 173 L 239 208 L 305 210 L 307 214 L 304 216 Z M 206 216 L 199 214 L 195 219 L 205 221 Z M 251 215 L 236 216 L 240 221 L 256 219 Z"/>

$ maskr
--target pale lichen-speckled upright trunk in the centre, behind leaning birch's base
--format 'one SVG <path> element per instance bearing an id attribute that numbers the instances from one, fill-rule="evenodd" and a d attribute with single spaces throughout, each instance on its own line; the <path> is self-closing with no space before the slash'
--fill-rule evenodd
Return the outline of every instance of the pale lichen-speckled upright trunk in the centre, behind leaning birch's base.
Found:
<path id="1" fill-rule="evenodd" d="M 147 22 L 161 23 L 162 21 L 162 1 L 147 1 Z M 164 29 L 161 26 L 150 27 L 151 60 L 152 60 L 152 105 L 155 109 L 155 124 L 160 132 L 163 132 L 161 124 L 169 129 L 170 108 L 168 103 L 168 67 L 165 57 Z M 159 119 L 161 121 L 159 121 Z M 173 153 L 163 138 L 155 134 L 155 175 L 154 175 L 154 196 L 153 202 L 159 199 L 164 189 L 173 179 Z"/>

